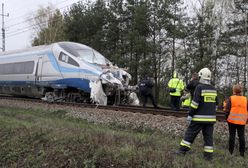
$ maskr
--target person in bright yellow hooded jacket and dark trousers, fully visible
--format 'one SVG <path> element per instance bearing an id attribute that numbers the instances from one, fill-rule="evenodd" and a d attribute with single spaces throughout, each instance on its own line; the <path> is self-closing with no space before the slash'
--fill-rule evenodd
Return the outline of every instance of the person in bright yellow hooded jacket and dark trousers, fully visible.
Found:
<path id="1" fill-rule="evenodd" d="M 171 108 L 178 111 L 180 109 L 180 97 L 184 90 L 184 84 L 183 81 L 178 78 L 177 72 L 173 73 L 173 78 L 168 82 L 168 87 L 171 96 Z"/>

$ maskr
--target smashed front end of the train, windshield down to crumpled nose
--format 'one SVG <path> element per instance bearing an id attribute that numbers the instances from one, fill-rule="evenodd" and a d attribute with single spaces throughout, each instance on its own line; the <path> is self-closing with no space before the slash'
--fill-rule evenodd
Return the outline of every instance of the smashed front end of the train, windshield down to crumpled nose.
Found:
<path id="1" fill-rule="evenodd" d="M 79 43 L 59 42 L 58 45 L 77 63 L 78 76 L 89 84 L 81 88 L 90 92 L 91 100 L 100 105 L 139 105 L 136 87 L 130 86 L 131 75 L 107 60 L 96 50 Z"/>

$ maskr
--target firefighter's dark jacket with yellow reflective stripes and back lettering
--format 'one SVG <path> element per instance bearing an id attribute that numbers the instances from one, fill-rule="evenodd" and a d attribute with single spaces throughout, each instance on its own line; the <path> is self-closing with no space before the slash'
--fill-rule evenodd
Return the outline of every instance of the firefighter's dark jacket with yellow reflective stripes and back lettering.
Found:
<path id="1" fill-rule="evenodd" d="M 193 122 L 216 122 L 217 91 L 210 84 L 198 84 L 191 101 L 189 116 Z"/>

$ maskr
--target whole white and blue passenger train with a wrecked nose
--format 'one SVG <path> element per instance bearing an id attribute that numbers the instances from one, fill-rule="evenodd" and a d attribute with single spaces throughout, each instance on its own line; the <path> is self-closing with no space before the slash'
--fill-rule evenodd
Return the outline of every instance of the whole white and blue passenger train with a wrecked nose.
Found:
<path id="1" fill-rule="evenodd" d="M 138 105 L 131 75 L 93 48 L 62 41 L 0 54 L 0 94 L 48 102 Z"/>

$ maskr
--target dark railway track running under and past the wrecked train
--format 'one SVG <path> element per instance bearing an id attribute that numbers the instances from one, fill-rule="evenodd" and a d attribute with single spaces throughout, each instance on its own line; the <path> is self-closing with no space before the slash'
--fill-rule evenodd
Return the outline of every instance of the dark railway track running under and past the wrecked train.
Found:
<path id="1" fill-rule="evenodd" d="M 164 115 L 164 116 L 174 116 L 174 117 L 187 117 L 187 110 L 186 109 L 182 109 L 180 111 L 173 111 L 168 107 L 155 109 L 152 107 L 143 108 L 141 106 L 130 106 L 130 105 L 129 106 L 125 106 L 125 105 L 102 106 L 102 105 L 86 104 L 86 103 L 65 103 L 65 102 L 49 103 L 49 102 L 42 101 L 40 99 L 12 97 L 12 96 L 4 96 L 4 95 L 0 95 L 0 100 L 1 99 L 17 100 L 17 101 L 25 101 L 25 102 L 36 102 L 36 103 L 42 103 L 42 104 L 56 104 L 56 105 L 60 105 L 60 106 L 98 108 L 98 109 L 107 109 L 107 110 L 124 111 L 124 112 L 132 112 L 132 113 L 142 113 L 142 114 Z M 216 116 L 217 116 L 218 121 L 225 121 L 224 112 L 218 111 Z"/>

